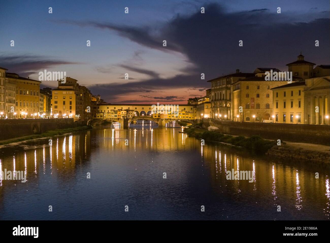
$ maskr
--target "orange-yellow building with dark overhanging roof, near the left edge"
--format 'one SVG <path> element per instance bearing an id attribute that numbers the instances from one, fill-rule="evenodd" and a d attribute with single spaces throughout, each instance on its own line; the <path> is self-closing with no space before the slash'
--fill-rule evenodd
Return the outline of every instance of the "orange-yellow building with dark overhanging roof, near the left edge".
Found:
<path id="1" fill-rule="evenodd" d="M 39 113 L 40 81 L 6 73 L 9 83 L 16 85 L 16 117 L 37 118 Z"/>

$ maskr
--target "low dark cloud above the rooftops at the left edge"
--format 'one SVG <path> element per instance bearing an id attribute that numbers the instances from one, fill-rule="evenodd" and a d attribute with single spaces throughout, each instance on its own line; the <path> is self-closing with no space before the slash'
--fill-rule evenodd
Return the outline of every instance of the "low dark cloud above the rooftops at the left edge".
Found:
<path id="1" fill-rule="evenodd" d="M 44 56 L 28 54 L 8 56 L 4 53 L 0 55 L 0 63 L 2 67 L 9 69 L 8 72 L 15 72 L 22 77 L 27 77 L 31 74 L 36 74 L 39 71 L 44 71 L 47 68 L 53 68 L 58 65 L 82 64 L 80 62 L 64 61 Z"/>

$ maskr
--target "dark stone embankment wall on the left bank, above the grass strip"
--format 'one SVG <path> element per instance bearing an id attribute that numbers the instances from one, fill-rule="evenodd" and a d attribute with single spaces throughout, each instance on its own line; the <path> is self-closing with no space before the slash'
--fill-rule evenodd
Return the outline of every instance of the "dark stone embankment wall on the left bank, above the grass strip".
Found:
<path id="1" fill-rule="evenodd" d="M 34 134 L 49 130 L 72 128 L 78 125 L 73 118 L 58 119 L 4 119 L 0 120 L 0 141 Z"/>

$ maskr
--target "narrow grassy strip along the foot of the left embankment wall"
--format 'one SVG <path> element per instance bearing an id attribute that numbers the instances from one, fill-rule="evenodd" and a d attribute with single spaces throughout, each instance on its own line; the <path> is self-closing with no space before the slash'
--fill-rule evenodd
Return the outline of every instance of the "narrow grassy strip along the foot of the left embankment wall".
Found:
<path id="1" fill-rule="evenodd" d="M 82 127 L 50 130 L 50 131 L 47 131 L 42 134 L 35 134 L 35 135 L 30 135 L 30 136 L 2 140 L 2 141 L 0 141 L 0 145 L 9 144 L 9 143 L 13 143 L 13 142 L 21 142 L 21 141 L 26 141 L 26 140 L 31 140 L 31 139 L 37 139 L 37 138 L 48 138 L 48 137 L 53 137 L 56 135 L 80 132 L 80 131 L 85 131 L 85 130 L 89 130 L 89 129 L 91 129 L 90 126 L 82 126 Z"/>

